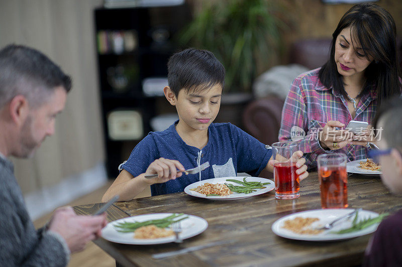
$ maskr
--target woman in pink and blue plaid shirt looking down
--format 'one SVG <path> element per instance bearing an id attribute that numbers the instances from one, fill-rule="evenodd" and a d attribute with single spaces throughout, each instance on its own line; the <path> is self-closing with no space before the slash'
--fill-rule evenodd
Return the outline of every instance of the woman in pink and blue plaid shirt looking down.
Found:
<path id="1" fill-rule="evenodd" d="M 334 150 L 346 153 L 348 161 L 367 158 L 369 132 L 353 136 L 341 128 L 350 120 L 370 124 L 377 105 L 400 94 L 395 33 L 386 10 L 373 3 L 356 5 L 332 35 L 328 62 L 294 79 L 279 141 L 297 141 L 310 169 L 318 155 Z"/>

